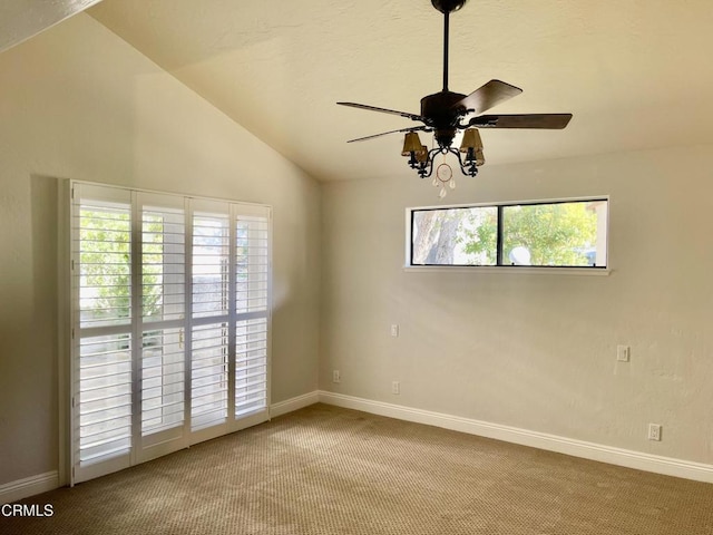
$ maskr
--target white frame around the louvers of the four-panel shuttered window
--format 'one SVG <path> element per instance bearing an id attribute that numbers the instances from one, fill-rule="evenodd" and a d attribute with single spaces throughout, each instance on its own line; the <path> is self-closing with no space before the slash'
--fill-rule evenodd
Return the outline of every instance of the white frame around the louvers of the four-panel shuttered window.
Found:
<path id="1" fill-rule="evenodd" d="M 80 231 L 81 227 L 77 226 L 78 222 L 81 218 L 81 206 L 84 197 L 84 188 L 88 188 L 94 192 L 95 195 L 99 195 L 99 197 L 95 197 L 89 195 L 87 198 L 92 198 L 91 202 L 111 202 L 115 196 L 121 197 L 123 203 L 128 202 L 128 210 L 130 212 L 129 221 L 130 221 L 130 266 L 131 266 L 131 295 L 130 300 L 130 321 L 128 325 L 123 325 L 131 332 L 131 346 L 136 346 L 138 340 L 143 340 L 145 333 L 150 331 L 153 327 L 162 332 L 168 328 L 182 328 L 184 331 L 184 335 L 180 340 L 182 349 L 184 349 L 182 353 L 182 359 L 184 362 L 184 385 L 185 388 L 183 390 L 184 399 L 187 405 L 184 405 L 184 420 L 180 426 L 175 426 L 175 429 L 180 429 L 183 432 L 176 437 L 164 437 L 163 430 L 160 429 L 150 429 L 150 426 L 144 426 L 141 418 L 141 409 L 145 408 L 144 401 L 141 400 L 143 389 L 147 388 L 145 383 L 141 382 L 144 379 L 144 370 L 141 368 L 143 364 L 143 344 L 137 346 L 137 349 L 128 348 L 129 352 L 131 352 L 131 368 L 133 368 L 133 378 L 131 378 L 131 406 L 134 410 L 138 409 L 136 412 L 136 417 L 133 421 L 133 431 L 131 431 L 131 446 L 130 450 L 127 454 L 121 454 L 121 456 L 113 459 L 107 457 L 106 461 L 97 463 L 87 463 L 84 467 L 80 465 L 78 448 L 76 447 L 78 432 L 76 430 L 76 426 L 79 424 L 79 390 L 78 390 L 78 381 L 80 380 L 79 376 L 79 343 L 84 339 L 89 339 L 90 337 L 85 337 L 87 328 L 82 328 L 80 325 L 80 284 L 78 283 L 80 273 L 81 259 L 80 259 L 80 250 L 77 249 L 77 244 L 81 242 Z M 107 195 L 107 200 L 101 197 L 102 195 Z M 126 198 L 124 198 L 126 197 Z M 156 205 L 154 206 L 153 202 L 149 202 L 153 197 L 156 197 Z M 176 206 L 174 206 L 174 203 Z M 136 187 L 128 186 L 117 186 L 113 184 L 102 184 L 102 183 L 92 183 L 85 181 L 64 181 L 62 182 L 62 195 L 59 202 L 60 205 L 60 218 L 62 224 L 60 225 L 60 253 L 62 259 L 66 259 L 67 264 L 66 269 L 60 269 L 60 280 L 62 281 L 62 301 L 67 304 L 65 310 L 61 310 L 60 314 L 60 325 L 67 329 L 67 334 L 60 332 L 60 455 L 61 455 L 61 480 L 62 483 L 68 483 L 74 485 L 75 483 L 79 483 L 81 480 L 91 479 L 99 475 L 108 474 L 110 471 L 115 471 L 116 469 L 121 469 L 124 467 L 133 466 L 135 464 L 143 463 L 145 460 L 150 460 L 150 458 L 155 458 L 162 455 L 166 455 L 167 453 L 175 451 L 177 449 L 182 449 L 184 447 L 188 447 L 193 444 L 197 444 L 203 440 L 207 440 L 214 438 L 215 436 L 221 436 L 226 432 L 233 432 L 235 430 L 240 430 L 245 427 L 250 427 L 252 425 L 260 424 L 262 421 L 266 421 L 270 419 L 270 410 L 271 410 L 271 362 L 272 362 L 272 278 L 273 278 L 273 268 L 272 268 L 272 243 L 273 243 L 273 225 L 272 225 L 272 207 L 266 204 L 258 203 L 246 203 L 233 200 L 222 200 L 206 196 L 196 196 L 196 195 L 187 195 L 172 192 L 160 192 L 160 191 L 152 191 L 152 189 L 143 189 Z M 222 215 L 227 216 L 228 220 L 228 250 L 229 253 L 229 273 L 231 273 L 231 283 L 228 284 L 228 294 L 231 295 L 229 302 L 235 304 L 235 308 L 229 307 L 227 311 L 223 311 L 216 314 L 211 315 L 208 318 L 197 318 L 193 314 L 193 274 L 194 274 L 194 220 L 195 215 L 201 212 L 204 206 L 213 206 L 219 205 L 221 210 L 225 210 L 225 214 L 221 212 Z M 182 272 L 182 282 L 179 283 L 183 286 L 183 304 L 182 310 L 183 314 L 178 319 L 163 319 L 163 320 L 154 320 L 149 319 L 144 314 L 141 296 L 143 291 L 134 292 L 134 290 L 138 288 L 143 288 L 144 285 L 144 237 L 148 234 L 152 234 L 153 231 L 146 231 L 144 228 L 144 216 L 146 213 L 149 213 L 152 210 L 173 210 L 174 207 L 179 207 L 180 217 L 184 220 L 182 233 L 184 235 L 182 241 L 182 250 L 184 252 L 183 256 L 183 272 Z M 238 227 L 246 226 L 251 233 L 248 235 L 247 242 L 253 242 L 257 240 L 260 243 L 247 243 L 246 245 L 241 245 L 235 240 L 237 240 Z M 234 228 L 233 228 L 234 227 Z M 162 231 L 163 232 L 163 231 Z M 245 299 L 251 299 L 251 289 L 252 289 L 252 276 L 260 276 L 261 279 L 256 283 L 255 291 L 260 293 L 260 303 L 258 309 L 255 310 L 243 310 L 243 305 L 240 304 L 240 299 L 236 294 L 241 289 L 241 284 L 236 281 L 238 271 L 241 266 L 238 265 L 238 249 L 251 249 L 247 259 L 243 259 L 245 265 L 250 268 L 255 268 L 255 270 L 251 271 L 247 275 L 247 292 L 248 296 Z M 257 251 L 258 250 L 258 251 Z M 255 252 L 257 251 L 257 252 Z M 170 253 L 169 253 L 170 254 Z M 242 256 L 241 256 L 242 259 Z M 165 261 L 162 261 L 165 262 Z M 254 264 L 254 265 L 253 265 Z M 235 294 L 235 295 L 234 295 Z M 229 340 L 228 344 L 228 416 L 224 424 L 212 426 L 209 428 L 196 428 L 192 427 L 191 422 L 193 416 L 189 414 L 191 410 L 191 386 L 192 381 L 192 371 L 189 370 L 191 363 L 193 362 L 192 348 L 191 348 L 191 332 L 193 332 L 196 328 L 201 325 L 205 325 L 209 321 L 218 318 L 221 321 L 225 320 L 229 325 L 227 329 L 229 330 Z M 255 349 L 253 353 L 255 354 L 258 351 L 261 352 L 264 362 L 261 364 L 262 368 L 258 370 L 261 373 L 261 385 L 257 385 L 257 372 L 253 373 L 251 387 L 254 387 L 254 391 L 260 390 L 260 399 L 257 400 L 256 395 L 250 398 L 248 401 L 256 400 L 255 402 L 250 403 L 250 407 L 245 409 L 241 409 L 240 414 L 235 410 L 236 406 L 243 407 L 245 402 L 238 399 L 238 396 L 245 397 L 242 393 L 242 390 L 245 387 L 238 385 L 235 378 L 238 373 L 242 373 L 243 363 L 241 363 L 241 369 L 238 369 L 237 357 L 236 357 L 236 346 L 241 342 L 241 340 L 235 337 L 236 329 L 240 329 L 245 321 L 247 322 L 260 322 L 262 327 L 262 331 L 260 331 L 256 335 L 260 338 L 261 347 Z M 125 329 L 125 330 L 126 330 Z M 107 327 L 105 330 L 115 331 L 117 330 L 114 327 Z M 85 332 L 82 332 L 85 331 Z M 243 337 L 246 338 L 246 337 Z M 248 348 L 250 349 L 250 348 Z M 264 353 L 264 354 L 263 354 Z M 258 357 L 252 357 L 254 360 L 257 360 Z M 242 357 L 241 357 L 242 359 Z M 253 368 L 255 368 L 255 364 Z M 146 376 L 148 377 L 148 376 Z M 252 376 L 251 376 L 252 377 Z M 254 393 L 253 390 L 251 392 Z M 248 392 L 250 393 L 250 392 Z M 260 401 L 260 403 L 257 403 Z M 260 407 L 257 407 L 260 405 Z M 174 428 L 172 428 L 174 429 Z M 144 434 L 143 431 L 147 432 Z M 169 429 L 168 429 L 169 430 Z M 154 440 L 154 438 L 156 440 Z"/>

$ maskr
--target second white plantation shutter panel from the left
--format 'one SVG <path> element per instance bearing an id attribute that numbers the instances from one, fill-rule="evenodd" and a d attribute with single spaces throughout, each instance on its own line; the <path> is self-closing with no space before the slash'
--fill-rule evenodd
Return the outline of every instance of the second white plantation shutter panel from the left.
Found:
<path id="1" fill-rule="evenodd" d="M 138 194 L 140 459 L 185 446 L 186 215 L 180 197 Z"/>

